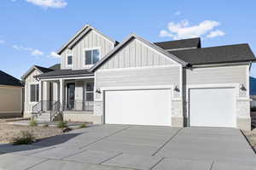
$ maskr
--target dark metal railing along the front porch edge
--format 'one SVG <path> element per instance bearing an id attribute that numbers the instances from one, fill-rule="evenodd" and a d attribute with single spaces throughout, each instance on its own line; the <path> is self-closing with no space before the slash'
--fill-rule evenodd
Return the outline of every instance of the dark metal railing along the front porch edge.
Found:
<path id="1" fill-rule="evenodd" d="M 69 100 L 63 105 L 64 111 L 93 111 L 94 101 L 85 101 L 82 99 Z"/>

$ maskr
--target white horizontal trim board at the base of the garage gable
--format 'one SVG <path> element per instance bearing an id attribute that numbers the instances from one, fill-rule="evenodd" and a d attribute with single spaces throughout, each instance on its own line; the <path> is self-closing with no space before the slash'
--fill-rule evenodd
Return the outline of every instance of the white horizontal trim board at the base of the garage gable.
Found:
<path id="1" fill-rule="evenodd" d="M 141 70 L 141 69 L 157 69 L 157 68 L 169 68 L 169 67 L 182 67 L 181 65 L 150 65 L 141 67 L 125 67 L 125 68 L 115 68 L 115 69 L 100 69 L 101 71 L 127 71 L 127 70 Z"/>

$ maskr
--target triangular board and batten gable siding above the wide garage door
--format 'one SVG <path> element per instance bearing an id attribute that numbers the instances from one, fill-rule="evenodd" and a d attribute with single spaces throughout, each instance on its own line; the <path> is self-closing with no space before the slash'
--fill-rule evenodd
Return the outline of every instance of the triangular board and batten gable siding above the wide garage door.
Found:
<path id="1" fill-rule="evenodd" d="M 164 54 L 148 47 L 140 40 L 133 39 L 114 54 L 100 69 L 144 67 L 155 65 L 177 65 Z"/>

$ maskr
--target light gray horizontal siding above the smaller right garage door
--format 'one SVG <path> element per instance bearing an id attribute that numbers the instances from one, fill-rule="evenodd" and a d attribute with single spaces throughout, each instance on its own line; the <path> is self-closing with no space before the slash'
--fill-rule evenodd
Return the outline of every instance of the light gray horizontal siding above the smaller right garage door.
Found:
<path id="1" fill-rule="evenodd" d="M 243 84 L 247 89 L 247 65 L 230 65 L 185 70 L 184 86 L 201 84 Z M 247 91 L 239 90 L 239 97 L 248 97 Z"/>

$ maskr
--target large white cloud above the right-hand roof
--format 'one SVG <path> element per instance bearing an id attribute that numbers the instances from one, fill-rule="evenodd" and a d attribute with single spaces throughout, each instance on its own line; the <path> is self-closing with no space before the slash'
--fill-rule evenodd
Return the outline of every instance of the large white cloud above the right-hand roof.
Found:
<path id="1" fill-rule="evenodd" d="M 167 26 L 168 29 L 160 31 L 159 36 L 171 37 L 174 40 L 191 37 L 202 37 L 219 25 L 220 24 L 215 20 L 204 20 L 199 25 L 195 26 L 190 26 L 189 20 L 181 20 L 178 23 L 170 22 Z"/>

